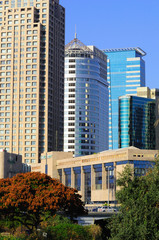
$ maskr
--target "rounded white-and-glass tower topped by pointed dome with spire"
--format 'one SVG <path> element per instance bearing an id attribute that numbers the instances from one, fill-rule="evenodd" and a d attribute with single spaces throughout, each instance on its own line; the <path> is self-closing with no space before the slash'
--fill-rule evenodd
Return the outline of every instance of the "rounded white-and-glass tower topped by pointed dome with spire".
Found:
<path id="1" fill-rule="evenodd" d="M 107 57 L 76 37 L 65 47 L 64 151 L 108 149 Z"/>

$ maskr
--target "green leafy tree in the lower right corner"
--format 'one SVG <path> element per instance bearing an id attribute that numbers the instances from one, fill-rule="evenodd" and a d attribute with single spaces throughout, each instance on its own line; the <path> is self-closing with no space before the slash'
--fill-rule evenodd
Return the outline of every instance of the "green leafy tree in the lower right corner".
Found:
<path id="1" fill-rule="evenodd" d="M 111 221 L 112 240 L 159 239 L 159 162 L 146 176 L 135 177 L 129 166 L 117 181 L 120 213 Z"/>

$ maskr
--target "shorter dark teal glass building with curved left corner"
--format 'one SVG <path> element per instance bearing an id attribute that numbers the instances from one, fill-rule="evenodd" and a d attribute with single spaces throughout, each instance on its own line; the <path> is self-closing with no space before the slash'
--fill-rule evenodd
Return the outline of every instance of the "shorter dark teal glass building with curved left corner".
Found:
<path id="1" fill-rule="evenodd" d="M 119 148 L 156 149 L 155 112 L 154 99 L 119 97 Z"/>

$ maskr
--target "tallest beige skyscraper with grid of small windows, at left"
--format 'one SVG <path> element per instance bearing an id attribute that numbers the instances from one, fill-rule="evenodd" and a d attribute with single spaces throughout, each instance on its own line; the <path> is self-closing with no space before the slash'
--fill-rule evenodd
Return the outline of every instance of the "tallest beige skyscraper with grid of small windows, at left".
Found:
<path id="1" fill-rule="evenodd" d="M 59 0 L 0 2 L 0 147 L 26 163 L 63 149 L 64 35 Z"/>

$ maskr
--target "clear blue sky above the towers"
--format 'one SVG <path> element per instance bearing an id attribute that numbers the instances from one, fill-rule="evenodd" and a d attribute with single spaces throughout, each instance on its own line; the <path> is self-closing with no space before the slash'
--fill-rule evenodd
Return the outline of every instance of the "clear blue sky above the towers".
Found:
<path id="1" fill-rule="evenodd" d="M 159 88 L 159 0 L 60 0 L 66 44 L 77 37 L 99 49 L 140 47 L 147 55 L 146 86 Z"/>

